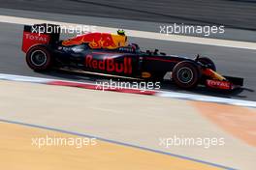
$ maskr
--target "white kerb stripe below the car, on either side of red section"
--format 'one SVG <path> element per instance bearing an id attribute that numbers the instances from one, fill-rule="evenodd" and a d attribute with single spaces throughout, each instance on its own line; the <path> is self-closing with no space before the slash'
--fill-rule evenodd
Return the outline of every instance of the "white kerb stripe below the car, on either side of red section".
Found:
<path id="1" fill-rule="evenodd" d="M 86 82 L 40 78 L 40 77 L 14 75 L 14 74 L 6 74 L 6 73 L 0 73 L 0 80 L 42 83 L 42 84 L 47 84 L 51 81 L 66 81 L 66 82 L 75 82 L 75 83 L 95 85 L 93 83 L 86 83 Z M 231 104 L 231 105 L 256 108 L 256 101 L 241 100 L 241 99 L 225 99 L 225 98 L 218 98 L 218 97 L 208 97 L 208 96 L 204 96 L 204 95 L 194 95 L 194 94 L 166 92 L 166 91 L 155 91 L 155 92 L 156 93 L 154 96 L 163 97 L 163 98 L 190 99 L 190 100 L 217 102 L 217 103 L 223 103 L 223 104 Z"/>

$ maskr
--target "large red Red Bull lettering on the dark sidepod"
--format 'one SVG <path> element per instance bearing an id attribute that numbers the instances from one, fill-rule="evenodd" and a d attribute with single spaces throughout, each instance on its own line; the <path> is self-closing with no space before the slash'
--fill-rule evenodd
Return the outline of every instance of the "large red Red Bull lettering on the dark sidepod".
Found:
<path id="1" fill-rule="evenodd" d="M 112 58 L 104 58 L 103 60 L 95 60 L 92 55 L 85 57 L 85 67 L 94 70 L 117 72 L 117 73 L 132 73 L 132 59 L 124 57 L 123 62 L 117 63 Z"/>

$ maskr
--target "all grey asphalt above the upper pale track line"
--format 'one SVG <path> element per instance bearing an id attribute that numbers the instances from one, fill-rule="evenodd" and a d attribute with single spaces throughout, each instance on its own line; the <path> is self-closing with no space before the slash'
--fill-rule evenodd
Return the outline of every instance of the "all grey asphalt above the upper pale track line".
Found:
<path id="1" fill-rule="evenodd" d="M 256 10 L 253 2 L 225 0 L 220 2 L 221 6 L 216 1 L 186 0 L 166 2 L 101 0 L 97 3 L 69 0 L 54 0 L 50 3 L 47 0 L 14 0 L 0 3 L 0 14 L 157 33 L 161 30 L 160 26 L 172 26 L 174 23 L 223 25 L 225 34 L 209 34 L 208 38 L 256 42 L 254 19 Z M 55 14 L 53 18 L 52 14 Z M 182 35 L 206 36 L 205 33 L 191 32 Z"/>

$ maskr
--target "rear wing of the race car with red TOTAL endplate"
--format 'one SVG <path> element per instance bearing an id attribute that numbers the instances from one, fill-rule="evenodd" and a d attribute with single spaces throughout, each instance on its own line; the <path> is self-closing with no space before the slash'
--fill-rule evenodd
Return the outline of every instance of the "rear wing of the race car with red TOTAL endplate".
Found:
<path id="1" fill-rule="evenodd" d="M 22 51 L 27 52 L 36 44 L 51 44 L 59 41 L 60 26 L 53 24 L 25 25 L 23 30 Z"/>

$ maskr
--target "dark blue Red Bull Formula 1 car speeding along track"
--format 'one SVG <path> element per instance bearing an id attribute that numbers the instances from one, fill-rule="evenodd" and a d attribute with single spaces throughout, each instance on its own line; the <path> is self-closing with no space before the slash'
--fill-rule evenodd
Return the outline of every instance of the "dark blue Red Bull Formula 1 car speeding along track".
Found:
<path id="1" fill-rule="evenodd" d="M 24 26 L 22 51 L 29 68 L 34 71 L 65 68 L 144 80 L 160 80 L 170 72 L 175 84 L 184 89 L 203 84 L 233 90 L 243 84 L 242 78 L 217 73 L 208 57 L 198 55 L 189 59 L 159 53 L 157 49 L 141 51 L 138 44 L 127 44 L 127 37 L 120 30 L 117 34 L 88 33 L 65 41 L 60 41 L 59 36 L 58 25 Z"/>

